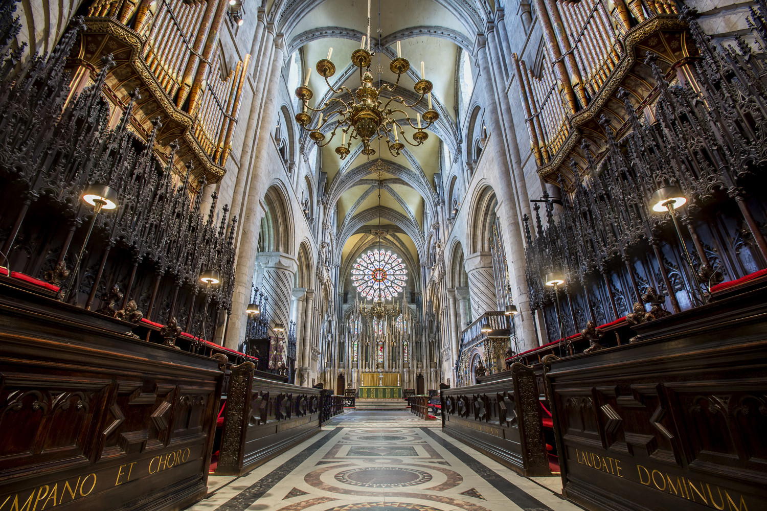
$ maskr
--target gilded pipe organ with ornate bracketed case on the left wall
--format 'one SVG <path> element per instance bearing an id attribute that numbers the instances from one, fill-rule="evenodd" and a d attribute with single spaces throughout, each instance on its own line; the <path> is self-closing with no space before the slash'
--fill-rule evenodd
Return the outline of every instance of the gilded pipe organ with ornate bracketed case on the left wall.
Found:
<path id="1" fill-rule="evenodd" d="M 130 126 L 146 141 L 159 115 L 156 156 L 169 164 L 168 149 L 177 141 L 173 168 L 184 176 L 191 160 L 196 189 L 199 177 L 212 183 L 225 173 L 249 70 L 250 55 L 228 68 L 219 50 L 227 8 L 227 0 L 94 0 L 69 59 L 73 89 L 80 91 L 102 69 L 100 59 L 113 57 L 104 84 L 113 122 L 133 101 Z"/>

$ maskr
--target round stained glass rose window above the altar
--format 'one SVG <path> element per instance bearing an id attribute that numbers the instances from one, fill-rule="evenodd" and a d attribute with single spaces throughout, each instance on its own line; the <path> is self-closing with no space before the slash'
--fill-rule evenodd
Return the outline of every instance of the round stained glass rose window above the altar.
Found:
<path id="1" fill-rule="evenodd" d="M 393 300 L 407 282 L 402 258 L 392 251 L 367 251 L 351 269 L 354 287 L 367 300 Z"/>

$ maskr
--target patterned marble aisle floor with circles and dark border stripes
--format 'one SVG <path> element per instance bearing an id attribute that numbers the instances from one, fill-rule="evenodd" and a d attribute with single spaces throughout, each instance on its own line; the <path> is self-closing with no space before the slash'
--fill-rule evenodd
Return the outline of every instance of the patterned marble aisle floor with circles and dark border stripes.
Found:
<path id="1" fill-rule="evenodd" d="M 347 411 L 189 511 L 570 511 L 559 477 L 520 477 L 410 411 Z"/>

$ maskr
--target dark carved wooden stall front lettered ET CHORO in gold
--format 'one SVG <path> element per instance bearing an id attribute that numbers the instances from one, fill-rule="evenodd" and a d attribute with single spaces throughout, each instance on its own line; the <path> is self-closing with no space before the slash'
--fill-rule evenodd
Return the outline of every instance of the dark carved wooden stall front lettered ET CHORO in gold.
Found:
<path id="1" fill-rule="evenodd" d="M 0 280 L 0 509 L 183 509 L 206 495 L 219 361 Z"/>

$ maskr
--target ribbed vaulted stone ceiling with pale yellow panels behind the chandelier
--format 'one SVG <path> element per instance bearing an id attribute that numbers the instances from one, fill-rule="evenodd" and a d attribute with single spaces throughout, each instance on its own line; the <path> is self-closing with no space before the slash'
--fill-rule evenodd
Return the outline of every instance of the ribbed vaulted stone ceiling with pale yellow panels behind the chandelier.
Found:
<path id="1" fill-rule="evenodd" d="M 423 225 L 425 211 L 432 218 L 436 212 L 434 175 L 439 172 L 443 150 L 440 140 L 451 155 L 456 154 L 458 146 L 456 66 L 460 52 L 470 51 L 473 44 L 479 29 L 479 9 L 472 0 L 382 0 L 380 4 L 374 0 L 370 18 L 370 49 L 374 51 L 370 73 L 374 76 L 374 85 L 393 84 L 397 80 L 389 64 L 397 56 L 397 41 L 401 41 L 402 56 L 410 61 L 410 70 L 400 78 L 397 94 L 410 93 L 416 97 L 413 84 L 421 78 L 423 61 L 425 77 L 434 85 L 433 104 L 440 119 L 429 130 L 429 138 L 423 145 L 406 145 L 397 157 L 390 154 L 385 142 L 376 140 L 371 143 L 376 154 L 370 159 L 360 153 L 361 145 L 352 146 L 351 154 L 343 161 L 335 153 L 340 141 L 334 140 L 321 149 L 322 171 L 328 173 L 326 208 L 332 211 L 337 207 L 337 255 L 343 257 L 342 265 L 377 244 L 377 236 L 370 233 L 377 231 L 379 223 L 387 226 L 382 229 L 386 232 L 387 246 L 407 251 L 407 257 L 418 264 L 423 257 L 422 233 L 430 227 Z M 314 69 L 318 60 L 327 57 L 332 47 L 331 60 L 336 67 L 336 73 L 330 78 L 333 87 L 338 89 L 344 85 L 351 90 L 360 87 L 360 72 L 351 64 L 351 53 L 360 47 L 367 31 L 367 2 L 293 2 L 281 12 L 279 20 L 286 34 L 288 51 L 301 51 L 302 76 L 309 67 Z M 324 78 L 314 70 L 309 87 L 314 91 L 310 103 L 314 108 L 330 97 L 341 96 L 332 93 Z M 423 113 L 425 103 L 426 99 L 414 112 Z M 411 140 L 413 131 L 406 129 Z M 302 136 L 306 137 L 307 133 Z M 380 182 L 376 171 L 383 172 Z"/>

